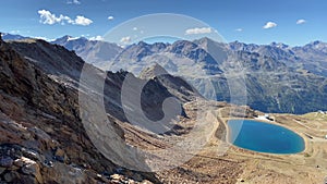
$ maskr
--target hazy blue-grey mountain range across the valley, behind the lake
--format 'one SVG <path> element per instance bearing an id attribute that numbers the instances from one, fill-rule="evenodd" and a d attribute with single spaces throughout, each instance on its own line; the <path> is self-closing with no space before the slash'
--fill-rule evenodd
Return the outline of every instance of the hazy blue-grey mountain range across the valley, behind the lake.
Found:
<path id="1" fill-rule="evenodd" d="M 322 41 L 291 47 L 202 38 L 172 44 L 141 41 L 121 48 L 104 40 L 64 36 L 51 44 L 105 71 L 142 75 L 144 68 L 159 64 L 211 100 L 249 105 L 264 112 L 327 110 L 327 44 Z"/>

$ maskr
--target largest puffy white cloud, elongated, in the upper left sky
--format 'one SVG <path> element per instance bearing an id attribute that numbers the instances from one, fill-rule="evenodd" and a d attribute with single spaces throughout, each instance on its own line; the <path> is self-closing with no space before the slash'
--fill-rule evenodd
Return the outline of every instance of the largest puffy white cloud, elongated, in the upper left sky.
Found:
<path id="1" fill-rule="evenodd" d="M 52 25 L 56 23 L 64 25 L 65 23 L 68 23 L 68 24 L 86 26 L 86 25 L 89 25 L 93 23 L 92 20 L 84 17 L 82 15 L 77 15 L 75 20 L 72 20 L 71 17 L 62 15 L 62 14 L 57 16 L 56 14 L 51 13 L 48 10 L 39 10 L 38 14 L 40 17 L 39 22 L 43 24 L 49 24 L 49 25 Z"/>

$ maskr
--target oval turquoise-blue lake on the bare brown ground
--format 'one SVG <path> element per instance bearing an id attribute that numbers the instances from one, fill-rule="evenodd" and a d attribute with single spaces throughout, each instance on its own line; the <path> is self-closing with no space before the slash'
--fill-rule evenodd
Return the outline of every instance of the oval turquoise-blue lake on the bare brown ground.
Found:
<path id="1" fill-rule="evenodd" d="M 296 154 L 305 148 L 300 135 L 275 124 L 253 120 L 230 120 L 228 127 L 228 140 L 244 149 L 269 154 Z"/>

